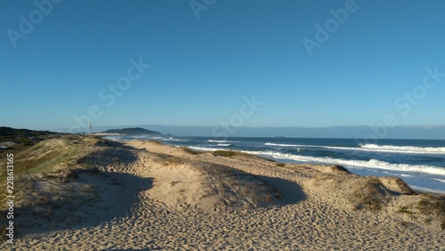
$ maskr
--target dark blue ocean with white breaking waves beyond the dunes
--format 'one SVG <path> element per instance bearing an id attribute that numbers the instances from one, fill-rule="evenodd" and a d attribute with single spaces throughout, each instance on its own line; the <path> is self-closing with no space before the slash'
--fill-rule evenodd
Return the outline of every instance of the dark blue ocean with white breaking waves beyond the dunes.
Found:
<path id="1" fill-rule="evenodd" d="M 229 138 L 109 136 L 110 140 L 156 140 L 193 150 L 240 150 L 278 162 L 344 166 L 354 174 L 394 176 L 415 190 L 445 194 L 444 140 Z"/>

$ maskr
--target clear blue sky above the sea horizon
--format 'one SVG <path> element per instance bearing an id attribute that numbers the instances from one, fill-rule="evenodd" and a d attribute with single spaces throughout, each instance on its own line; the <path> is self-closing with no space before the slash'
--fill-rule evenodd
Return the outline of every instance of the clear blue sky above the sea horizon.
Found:
<path id="1" fill-rule="evenodd" d="M 445 125 L 441 0 L 53 2 L 0 2 L 0 126 Z"/>

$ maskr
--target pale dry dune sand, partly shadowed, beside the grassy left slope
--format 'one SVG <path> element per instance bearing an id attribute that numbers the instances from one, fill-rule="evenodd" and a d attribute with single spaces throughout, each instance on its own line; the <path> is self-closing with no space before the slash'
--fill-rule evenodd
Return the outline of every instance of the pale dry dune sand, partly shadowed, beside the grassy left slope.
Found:
<path id="1" fill-rule="evenodd" d="M 244 154 L 125 144 L 129 154 L 118 157 L 119 165 L 85 160 L 101 172 L 79 173 L 77 183 L 93 184 L 99 197 L 73 209 L 82 212 L 77 224 L 42 226 L 23 215 L 28 229 L 14 247 L 3 243 L 0 249 L 445 250 L 440 222 L 398 213 L 420 195 L 400 195 L 378 183 L 383 206 L 374 210 L 375 200 L 363 202 L 354 191 L 376 181 L 336 166 L 280 167 Z"/>

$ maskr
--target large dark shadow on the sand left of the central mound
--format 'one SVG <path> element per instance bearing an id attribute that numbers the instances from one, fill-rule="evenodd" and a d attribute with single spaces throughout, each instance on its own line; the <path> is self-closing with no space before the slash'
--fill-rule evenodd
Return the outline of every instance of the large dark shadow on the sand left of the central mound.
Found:
<path id="1" fill-rule="evenodd" d="M 47 182 L 45 182 L 47 183 Z M 152 178 L 132 174 L 94 172 L 78 174 L 75 182 L 39 192 L 28 206 L 17 208 L 19 237 L 91 227 L 130 215 L 138 195 L 153 186 Z"/>

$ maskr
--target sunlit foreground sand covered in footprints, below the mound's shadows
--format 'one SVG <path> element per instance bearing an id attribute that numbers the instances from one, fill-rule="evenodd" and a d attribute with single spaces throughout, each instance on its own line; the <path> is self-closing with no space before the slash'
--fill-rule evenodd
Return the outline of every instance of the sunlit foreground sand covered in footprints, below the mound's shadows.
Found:
<path id="1" fill-rule="evenodd" d="M 141 168 L 138 165 L 144 162 L 144 158 L 149 157 L 140 154 L 140 161 L 127 166 L 125 172 L 138 174 L 138 168 Z M 292 178 L 286 171 L 278 175 Z M 131 185 L 126 187 L 133 190 Z M 445 246 L 445 234 L 441 235 L 441 239 L 432 239 L 425 238 L 430 235 L 422 229 L 407 230 L 391 222 L 375 225 L 375 221 L 369 221 L 369 215 L 338 210 L 323 203 L 315 194 L 308 194 L 305 200 L 294 205 L 241 213 L 220 212 L 218 215 L 192 209 L 170 211 L 161 203 L 150 200 L 143 192 L 139 198 L 140 201 L 125 217 L 43 237 L 27 236 L 17 240 L 16 248 L 441 250 Z M 394 235 L 394 232 L 399 234 Z"/>

